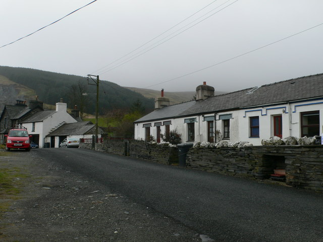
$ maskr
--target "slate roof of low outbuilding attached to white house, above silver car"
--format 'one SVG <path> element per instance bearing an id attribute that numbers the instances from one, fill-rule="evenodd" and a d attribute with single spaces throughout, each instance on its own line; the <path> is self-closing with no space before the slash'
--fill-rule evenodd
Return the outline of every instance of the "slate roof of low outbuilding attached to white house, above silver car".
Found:
<path id="1" fill-rule="evenodd" d="M 90 121 L 64 124 L 47 136 L 84 135 L 94 127 Z"/>

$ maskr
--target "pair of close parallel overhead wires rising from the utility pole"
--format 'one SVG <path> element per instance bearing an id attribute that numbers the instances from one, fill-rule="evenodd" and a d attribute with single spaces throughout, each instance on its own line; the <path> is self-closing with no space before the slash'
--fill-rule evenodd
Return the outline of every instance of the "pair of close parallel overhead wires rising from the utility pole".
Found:
<path id="1" fill-rule="evenodd" d="M 227 1 L 227 2 L 225 2 L 224 4 L 228 3 L 229 1 L 231 1 L 231 0 L 228 0 L 228 1 Z M 137 58 L 137 57 L 139 57 L 139 56 L 141 56 L 141 55 L 143 55 L 143 54 L 147 53 L 148 51 L 150 51 L 150 50 L 152 50 L 152 49 L 154 49 L 154 48 L 158 47 L 159 45 L 164 44 L 165 42 L 167 42 L 167 41 L 169 41 L 169 40 L 171 40 L 171 39 L 175 38 L 176 36 L 180 35 L 181 33 L 185 32 L 186 30 L 188 30 L 188 29 L 190 29 L 190 28 L 194 27 L 195 25 L 197 25 L 197 24 L 199 24 L 199 23 L 203 22 L 204 20 L 206 20 L 206 19 L 210 18 L 211 16 L 213 16 L 214 14 L 217 14 L 217 13 L 219 13 L 220 11 L 222 11 L 222 10 L 224 10 L 224 9 L 228 8 L 229 6 L 233 5 L 234 3 L 238 2 L 238 1 L 239 1 L 239 0 L 236 0 L 235 2 L 233 2 L 233 3 L 229 4 L 229 5 L 227 5 L 226 7 L 224 7 L 223 9 L 221 9 L 221 10 L 219 10 L 219 11 L 217 11 L 217 12 L 215 12 L 215 13 L 211 14 L 211 15 L 209 15 L 208 17 L 206 17 L 206 18 L 202 19 L 201 21 L 199 21 L 199 22 L 197 22 L 197 23 L 193 24 L 192 26 L 190 26 L 190 27 L 188 27 L 188 28 L 184 29 L 183 31 L 181 31 L 181 32 L 177 33 L 176 35 L 174 35 L 174 36 L 172 36 L 172 37 L 170 37 L 170 38 L 166 39 L 167 37 L 169 37 L 169 36 L 171 36 L 171 35 L 175 34 L 175 33 L 176 33 L 176 32 L 178 32 L 179 30 L 181 30 L 181 29 L 185 28 L 186 26 L 188 26 L 188 25 L 190 25 L 190 24 L 194 23 L 196 20 L 198 20 L 198 19 L 200 19 L 201 17 L 205 16 L 205 15 L 207 14 L 207 13 L 206 13 L 205 15 L 203 15 L 203 16 L 199 17 L 198 19 L 196 19 L 196 20 L 192 21 L 191 23 L 189 23 L 189 24 L 185 25 L 185 26 L 184 26 L 184 27 L 182 27 L 181 29 L 179 29 L 179 30 L 175 31 L 174 33 L 172 33 L 172 34 L 170 34 L 170 35 L 168 35 L 168 36 L 164 37 L 163 39 L 166 39 L 165 41 L 163 41 L 163 42 L 161 42 L 161 43 L 159 43 L 159 44 L 157 44 L 157 45 L 155 45 L 155 44 L 156 44 L 156 43 L 158 43 L 158 42 L 160 42 L 160 41 L 162 41 L 163 39 L 161 39 L 161 40 L 159 40 L 159 41 L 155 42 L 154 44 L 152 44 L 152 45 L 150 45 L 150 46 L 148 46 L 148 47 L 144 48 L 143 50 L 141 50 L 141 51 L 137 52 L 136 54 L 133 54 L 133 55 L 131 55 L 130 57 L 126 58 L 124 61 L 122 61 L 122 62 L 124 62 L 124 63 L 120 62 L 119 64 L 116 64 L 117 66 L 111 67 L 110 69 L 108 69 L 108 70 L 106 70 L 106 71 L 100 72 L 100 75 L 101 75 L 101 74 L 104 74 L 104 73 L 106 73 L 106 72 L 110 72 L 110 71 L 112 71 L 112 70 L 114 70 L 114 69 L 116 69 L 116 68 L 118 68 L 118 67 L 120 67 L 120 66 L 125 65 L 126 63 L 128 63 L 128 62 L 132 61 L 133 59 L 135 59 L 135 58 Z M 224 5 L 224 4 L 222 4 L 222 5 Z M 222 5 L 218 6 L 217 8 L 221 7 Z M 215 9 L 217 9 L 217 8 L 215 8 Z M 213 9 L 213 10 L 215 10 L 215 9 Z M 213 10 L 211 10 L 210 12 L 212 12 Z M 208 13 L 210 13 L 210 12 L 208 12 Z M 154 45 L 155 45 L 155 46 L 154 46 Z M 152 47 L 152 46 L 153 46 L 153 47 Z M 150 47 L 151 47 L 151 48 L 150 48 Z M 150 49 L 149 49 L 149 48 L 150 48 Z M 146 50 L 146 49 L 147 49 L 147 50 Z M 144 51 L 144 50 L 146 50 L 146 51 Z M 144 52 L 142 52 L 142 51 L 144 51 Z M 142 52 L 142 53 L 141 53 L 141 54 L 139 54 L 140 52 Z M 137 54 L 138 54 L 138 55 L 137 55 Z M 134 57 L 133 57 L 133 56 L 134 56 Z M 131 58 L 131 57 L 133 57 L 133 58 Z M 130 58 L 130 59 L 129 59 L 129 58 Z M 127 59 L 128 59 L 128 61 L 126 61 Z"/>

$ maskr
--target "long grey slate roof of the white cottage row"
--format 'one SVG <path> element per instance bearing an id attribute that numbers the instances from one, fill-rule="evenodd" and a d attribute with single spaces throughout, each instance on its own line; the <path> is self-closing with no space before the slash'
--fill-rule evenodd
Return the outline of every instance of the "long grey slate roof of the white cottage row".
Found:
<path id="1" fill-rule="evenodd" d="M 302 99 L 323 98 L 323 74 L 311 75 L 209 97 L 202 101 L 192 101 L 189 106 L 182 104 L 157 109 L 138 119 L 135 123 L 157 119 L 192 116 L 239 108 L 265 106 L 293 102 Z"/>

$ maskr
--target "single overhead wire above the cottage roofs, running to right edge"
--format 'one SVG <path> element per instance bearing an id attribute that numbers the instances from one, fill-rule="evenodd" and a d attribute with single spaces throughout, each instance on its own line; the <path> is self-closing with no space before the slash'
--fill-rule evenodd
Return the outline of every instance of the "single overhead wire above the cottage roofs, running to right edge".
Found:
<path id="1" fill-rule="evenodd" d="M 180 78 L 182 78 L 182 77 L 186 77 L 186 76 L 192 75 L 192 74 L 194 74 L 194 73 L 197 73 L 197 72 L 200 72 L 200 71 L 204 71 L 204 70 L 206 70 L 206 69 L 208 69 L 208 68 L 215 67 L 215 66 L 218 66 L 218 65 L 220 65 L 220 64 L 223 64 L 223 63 L 229 62 L 229 61 L 231 61 L 232 59 L 239 58 L 239 57 L 241 57 L 241 56 L 243 56 L 243 55 L 246 55 L 246 54 L 252 53 L 252 52 L 254 52 L 254 51 L 257 51 L 257 50 L 259 50 L 259 49 L 265 48 L 265 47 L 270 46 L 270 45 L 272 45 L 272 44 L 276 44 L 276 43 L 278 43 L 278 42 L 280 42 L 280 41 L 283 41 L 283 40 L 288 39 L 288 38 L 291 38 L 291 37 L 293 37 L 293 36 L 295 36 L 295 35 L 298 35 L 298 34 L 304 33 L 305 31 L 311 30 L 311 29 L 316 28 L 316 27 L 321 26 L 321 25 L 323 25 L 323 23 L 320 23 L 320 24 L 315 25 L 315 26 L 313 26 L 313 27 L 310 27 L 310 28 L 308 28 L 308 29 L 302 30 L 302 31 L 300 31 L 300 32 L 298 32 L 298 33 L 296 33 L 296 34 L 292 34 L 292 35 L 290 35 L 290 36 L 287 36 L 287 37 L 285 37 L 285 38 L 282 38 L 282 39 L 277 40 L 277 41 L 275 41 L 275 42 L 272 42 L 272 43 L 270 43 L 270 44 L 266 44 L 266 45 L 263 45 L 263 46 L 258 47 L 258 48 L 256 48 L 256 49 L 250 50 L 250 51 L 245 52 L 245 53 L 243 53 L 243 54 L 236 55 L 236 56 L 234 56 L 234 57 L 232 57 L 232 58 L 226 59 L 225 61 L 219 62 L 219 63 L 217 63 L 217 64 L 213 64 L 213 65 L 211 65 L 211 66 L 208 66 L 208 67 L 205 67 L 205 68 L 199 69 L 199 70 L 197 70 L 197 71 L 194 71 L 194 72 L 191 72 L 191 73 L 188 73 L 188 74 L 185 74 L 185 75 L 179 76 L 179 77 L 175 77 L 175 78 L 172 78 L 172 79 L 167 80 L 167 81 L 164 81 L 164 82 L 159 82 L 159 83 L 157 83 L 157 84 L 153 84 L 153 85 L 150 85 L 150 86 L 147 86 L 147 87 L 144 87 L 144 88 L 157 86 L 157 85 L 159 85 L 159 84 L 163 84 L 163 83 L 167 83 L 167 82 L 170 82 L 170 81 L 174 81 L 174 80 L 180 79 Z"/>

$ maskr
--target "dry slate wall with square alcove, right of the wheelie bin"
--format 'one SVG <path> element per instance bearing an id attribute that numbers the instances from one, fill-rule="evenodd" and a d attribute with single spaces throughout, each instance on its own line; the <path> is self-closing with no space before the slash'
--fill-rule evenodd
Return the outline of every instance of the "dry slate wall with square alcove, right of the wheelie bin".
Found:
<path id="1" fill-rule="evenodd" d="M 323 191 L 323 146 L 253 146 L 191 148 L 187 166 L 228 175 L 269 178 L 274 169 L 286 170 L 286 184 Z"/>

